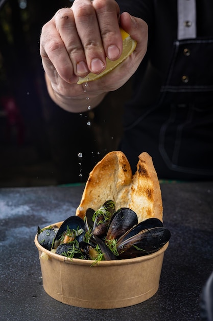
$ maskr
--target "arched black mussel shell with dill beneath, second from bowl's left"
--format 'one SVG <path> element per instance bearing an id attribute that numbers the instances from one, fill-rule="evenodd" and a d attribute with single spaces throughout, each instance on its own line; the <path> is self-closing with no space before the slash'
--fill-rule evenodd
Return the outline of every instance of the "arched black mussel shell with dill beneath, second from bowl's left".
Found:
<path id="1" fill-rule="evenodd" d="M 84 220 L 79 217 L 79 216 L 69 216 L 67 219 L 64 220 L 64 222 L 61 224 L 57 234 L 56 234 L 56 237 L 55 237 L 55 240 L 59 240 L 62 236 L 62 234 L 67 231 L 67 227 L 70 229 L 70 230 L 75 230 L 75 231 L 78 231 L 80 229 L 83 229 L 83 233 L 80 234 L 78 237 L 76 237 L 76 239 L 78 240 L 78 242 L 80 242 L 81 240 L 83 240 L 83 237 L 85 235 L 85 223 L 84 223 Z"/>

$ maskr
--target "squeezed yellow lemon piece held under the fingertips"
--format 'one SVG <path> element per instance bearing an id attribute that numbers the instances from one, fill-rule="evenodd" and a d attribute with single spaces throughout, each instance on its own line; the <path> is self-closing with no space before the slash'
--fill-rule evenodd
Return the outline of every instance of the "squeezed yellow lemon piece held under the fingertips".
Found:
<path id="1" fill-rule="evenodd" d="M 90 72 L 86 77 L 81 78 L 79 77 L 79 81 L 77 84 L 83 84 L 86 82 L 91 82 L 95 81 L 107 73 L 109 73 L 111 70 L 113 70 L 115 67 L 120 65 L 128 56 L 131 55 L 131 53 L 135 50 L 135 47 L 137 45 L 137 42 L 133 40 L 130 35 L 124 31 L 123 29 L 120 28 L 121 34 L 122 34 L 122 39 L 123 39 L 123 51 L 119 59 L 112 61 L 106 58 L 106 68 L 104 71 L 102 71 L 100 74 L 95 74 Z"/>

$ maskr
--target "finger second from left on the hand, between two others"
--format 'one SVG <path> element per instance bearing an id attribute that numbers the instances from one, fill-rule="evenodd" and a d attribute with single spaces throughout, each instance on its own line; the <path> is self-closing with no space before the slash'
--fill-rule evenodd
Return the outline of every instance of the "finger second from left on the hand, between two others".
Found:
<path id="1" fill-rule="evenodd" d="M 86 57 L 80 41 L 73 11 L 69 8 L 61 9 L 55 15 L 55 24 L 64 43 L 73 71 L 76 75 L 84 77 L 88 74 Z"/>

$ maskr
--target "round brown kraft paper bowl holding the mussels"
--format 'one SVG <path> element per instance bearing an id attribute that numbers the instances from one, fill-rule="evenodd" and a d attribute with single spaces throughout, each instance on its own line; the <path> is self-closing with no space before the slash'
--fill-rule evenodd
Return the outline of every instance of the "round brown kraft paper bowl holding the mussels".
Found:
<path id="1" fill-rule="evenodd" d="M 35 245 L 46 293 L 71 306 L 114 309 L 144 302 L 157 292 L 163 255 L 169 243 L 150 255 L 106 260 L 93 266 L 92 260 L 70 260 L 44 249 L 37 235 Z M 42 252 L 48 256 L 41 257 Z"/>

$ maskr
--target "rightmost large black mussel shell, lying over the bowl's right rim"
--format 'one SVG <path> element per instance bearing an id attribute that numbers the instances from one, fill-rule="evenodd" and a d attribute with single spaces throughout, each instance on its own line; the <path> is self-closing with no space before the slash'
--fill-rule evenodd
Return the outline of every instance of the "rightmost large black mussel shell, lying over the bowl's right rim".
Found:
<path id="1" fill-rule="evenodd" d="M 146 229 L 117 244 L 121 258 L 134 258 L 158 251 L 170 239 L 170 230 L 164 227 Z"/>

